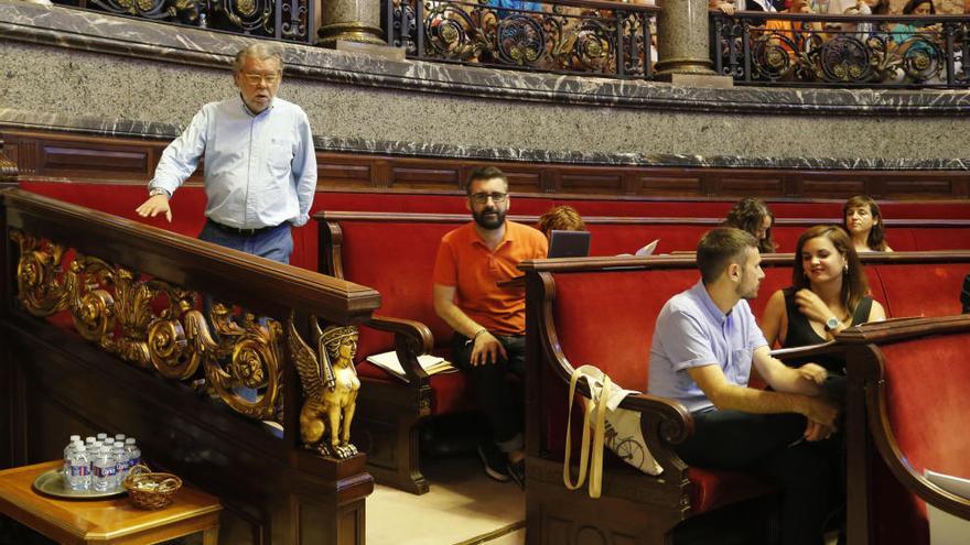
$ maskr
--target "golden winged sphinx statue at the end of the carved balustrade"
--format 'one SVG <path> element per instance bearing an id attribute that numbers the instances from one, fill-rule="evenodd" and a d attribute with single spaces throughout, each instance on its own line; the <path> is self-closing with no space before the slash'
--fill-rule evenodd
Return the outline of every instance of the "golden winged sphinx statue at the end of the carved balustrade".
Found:
<path id="1" fill-rule="evenodd" d="M 306 448 L 324 456 L 345 459 L 357 454 L 351 444 L 351 423 L 360 380 L 354 369 L 357 328 L 331 326 L 323 331 L 312 320 L 317 352 L 306 346 L 290 321 L 290 348 L 303 384 L 300 435 Z"/>

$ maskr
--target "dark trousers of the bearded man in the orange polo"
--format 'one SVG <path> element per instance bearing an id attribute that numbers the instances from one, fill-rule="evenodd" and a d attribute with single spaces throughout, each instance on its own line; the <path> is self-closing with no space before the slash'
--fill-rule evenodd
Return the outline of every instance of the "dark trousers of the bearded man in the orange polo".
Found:
<path id="1" fill-rule="evenodd" d="M 505 347 L 508 359 L 498 358 L 496 363 L 472 366 L 472 342 L 464 335 L 452 339 L 452 363 L 467 373 L 475 391 L 478 406 L 485 414 L 495 443 L 504 453 L 522 449 L 522 397 L 514 395 L 506 375 L 526 377 L 526 337 L 524 335 L 496 335 Z"/>

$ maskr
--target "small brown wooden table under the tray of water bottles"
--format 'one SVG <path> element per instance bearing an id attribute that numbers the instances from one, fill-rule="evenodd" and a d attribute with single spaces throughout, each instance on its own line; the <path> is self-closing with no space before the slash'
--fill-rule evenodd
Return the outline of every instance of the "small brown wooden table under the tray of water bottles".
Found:
<path id="1" fill-rule="evenodd" d="M 203 532 L 204 545 L 219 535 L 218 498 L 183 484 L 165 509 L 144 511 L 127 497 L 63 500 L 35 492 L 34 479 L 61 466 L 48 461 L 0 471 L 0 514 L 66 545 L 142 545 Z"/>

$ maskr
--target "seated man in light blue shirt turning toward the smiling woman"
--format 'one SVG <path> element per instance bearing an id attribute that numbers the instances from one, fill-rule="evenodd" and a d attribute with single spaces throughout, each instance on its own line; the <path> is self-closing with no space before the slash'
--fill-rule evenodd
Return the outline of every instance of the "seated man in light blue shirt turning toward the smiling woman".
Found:
<path id="1" fill-rule="evenodd" d="M 734 228 L 698 244 L 701 281 L 670 298 L 650 347 L 649 393 L 683 403 L 694 433 L 677 454 L 688 464 L 745 471 L 783 493 L 782 542 L 820 545 L 836 490 L 831 448 L 837 405 L 823 396 L 826 370 L 770 356 L 746 299 L 764 277 L 757 240 Z M 772 391 L 747 386 L 752 366 Z"/>

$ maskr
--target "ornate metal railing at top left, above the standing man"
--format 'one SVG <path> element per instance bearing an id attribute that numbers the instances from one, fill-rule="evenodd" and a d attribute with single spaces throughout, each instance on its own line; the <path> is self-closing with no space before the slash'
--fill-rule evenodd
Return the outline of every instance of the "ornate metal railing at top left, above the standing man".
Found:
<path id="1" fill-rule="evenodd" d="M 94 11 L 313 43 L 314 0 L 53 0 Z"/>

